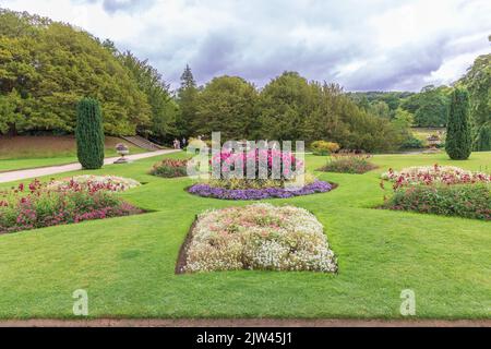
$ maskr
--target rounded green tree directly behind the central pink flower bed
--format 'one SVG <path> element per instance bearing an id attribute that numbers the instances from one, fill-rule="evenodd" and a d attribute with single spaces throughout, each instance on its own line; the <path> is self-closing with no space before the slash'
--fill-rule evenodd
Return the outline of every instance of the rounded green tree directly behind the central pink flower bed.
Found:
<path id="1" fill-rule="evenodd" d="M 196 99 L 195 132 L 220 131 L 224 140 L 247 139 L 254 129 L 256 98 L 254 86 L 241 77 L 213 79 Z"/>

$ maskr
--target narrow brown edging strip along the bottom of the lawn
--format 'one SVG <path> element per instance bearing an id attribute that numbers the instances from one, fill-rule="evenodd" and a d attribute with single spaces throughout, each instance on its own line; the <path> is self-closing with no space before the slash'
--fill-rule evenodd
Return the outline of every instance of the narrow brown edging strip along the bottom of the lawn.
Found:
<path id="1" fill-rule="evenodd" d="M 0 320 L 0 327 L 491 327 L 488 320 L 95 318 Z"/>

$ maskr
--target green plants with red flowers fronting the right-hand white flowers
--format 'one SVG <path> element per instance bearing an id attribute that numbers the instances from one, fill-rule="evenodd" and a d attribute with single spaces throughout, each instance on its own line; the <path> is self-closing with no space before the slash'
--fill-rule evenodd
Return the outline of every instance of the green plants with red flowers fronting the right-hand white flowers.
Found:
<path id="1" fill-rule="evenodd" d="M 486 184 L 400 188 L 385 208 L 491 220 L 491 192 Z"/>

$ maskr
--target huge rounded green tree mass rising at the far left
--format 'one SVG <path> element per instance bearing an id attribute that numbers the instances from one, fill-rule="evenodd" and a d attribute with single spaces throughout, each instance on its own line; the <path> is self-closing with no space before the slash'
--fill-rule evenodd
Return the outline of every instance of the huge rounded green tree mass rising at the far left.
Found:
<path id="1" fill-rule="evenodd" d="M 85 95 L 100 100 L 109 134 L 134 134 L 137 124 L 148 123 L 145 94 L 98 39 L 8 10 L 0 10 L 0 95 L 21 96 L 10 128 L 73 132 L 75 106 Z"/>

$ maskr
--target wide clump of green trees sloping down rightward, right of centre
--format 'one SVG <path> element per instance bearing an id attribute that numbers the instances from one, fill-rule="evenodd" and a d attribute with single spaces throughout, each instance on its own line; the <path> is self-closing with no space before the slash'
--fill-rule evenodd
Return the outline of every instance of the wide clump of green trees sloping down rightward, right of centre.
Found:
<path id="1" fill-rule="evenodd" d="M 383 151 L 397 147 L 387 119 L 360 109 L 336 84 L 323 85 L 285 72 L 261 92 L 259 137 L 332 140 L 343 148 Z"/>

